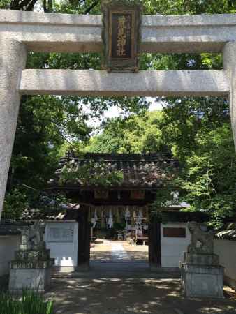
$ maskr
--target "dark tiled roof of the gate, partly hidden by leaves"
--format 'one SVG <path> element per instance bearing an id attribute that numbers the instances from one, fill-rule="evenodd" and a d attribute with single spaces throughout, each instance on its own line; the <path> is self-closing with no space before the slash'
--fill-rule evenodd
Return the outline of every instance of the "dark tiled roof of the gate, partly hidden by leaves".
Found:
<path id="1" fill-rule="evenodd" d="M 110 172 L 119 170 L 123 172 L 123 180 L 118 186 L 110 188 L 145 188 L 155 189 L 163 184 L 165 179 L 172 178 L 173 170 L 177 170 L 178 163 L 169 154 L 84 154 L 78 156 L 70 151 L 61 158 L 56 171 L 56 178 L 50 180 L 50 186 L 58 186 L 61 170 L 65 165 L 73 164 L 78 170 L 82 165 L 93 161 L 105 163 Z M 92 175 L 91 170 L 91 175 Z M 78 188 L 98 188 L 96 186 L 83 186 L 78 180 L 76 184 L 65 183 L 64 187 L 77 186 Z"/>

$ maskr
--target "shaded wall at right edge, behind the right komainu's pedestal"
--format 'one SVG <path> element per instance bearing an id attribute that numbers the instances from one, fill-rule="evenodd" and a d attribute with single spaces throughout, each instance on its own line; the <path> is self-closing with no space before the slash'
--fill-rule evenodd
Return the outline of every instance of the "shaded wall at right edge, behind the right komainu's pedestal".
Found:
<path id="1" fill-rule="evenodd" d="M 236 290 L 236 241 L 214 239 L 214 253 L 225 267 L 225 283 Z"/>

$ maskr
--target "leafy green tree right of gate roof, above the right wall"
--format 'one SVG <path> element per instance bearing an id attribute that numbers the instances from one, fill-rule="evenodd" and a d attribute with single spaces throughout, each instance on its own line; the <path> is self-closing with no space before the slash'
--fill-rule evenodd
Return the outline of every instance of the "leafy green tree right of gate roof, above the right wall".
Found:
<path id="1" fill-rule="evenodd" d="M 198 147 L 186 158 L 182 192 L 192 210 L 207 211 L 214 227 L 235 216 L 236 158 L 230 124 L 196 135 Z"/>

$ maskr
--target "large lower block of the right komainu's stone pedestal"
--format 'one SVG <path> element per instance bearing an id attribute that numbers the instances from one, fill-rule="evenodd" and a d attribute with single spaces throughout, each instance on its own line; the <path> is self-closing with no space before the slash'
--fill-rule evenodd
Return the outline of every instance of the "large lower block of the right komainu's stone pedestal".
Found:
<path id="1" fill-rule="evenodd" d="M 223 298 L 223 267 L 180 263 L 185 297 Z"/>

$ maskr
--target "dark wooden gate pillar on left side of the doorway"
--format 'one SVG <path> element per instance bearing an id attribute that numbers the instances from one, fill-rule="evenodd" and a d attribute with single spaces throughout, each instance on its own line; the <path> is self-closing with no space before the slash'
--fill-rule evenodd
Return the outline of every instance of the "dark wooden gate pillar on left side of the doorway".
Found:
<path id="1" fill-rule="evenodd" d="M 78 271 L 89 270 L 91 225 L 88 221 L 89 208 L 78 211 Z"/>

